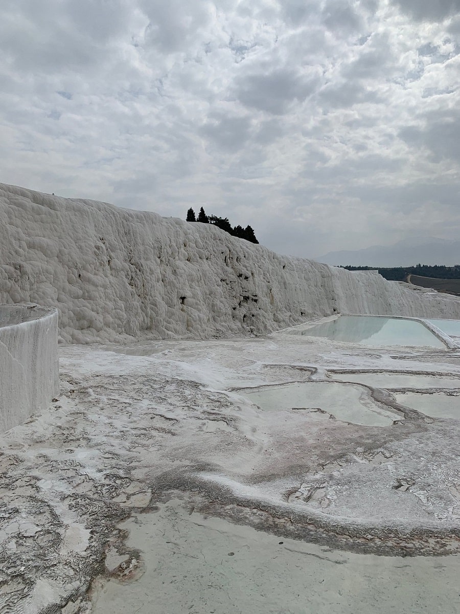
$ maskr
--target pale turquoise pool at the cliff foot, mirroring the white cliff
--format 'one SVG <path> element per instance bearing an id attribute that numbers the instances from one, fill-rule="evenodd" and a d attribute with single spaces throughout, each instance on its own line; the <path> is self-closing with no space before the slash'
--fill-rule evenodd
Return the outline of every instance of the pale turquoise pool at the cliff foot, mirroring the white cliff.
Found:
<path id="1" fill-rule="evenodd" d="M 421 322 L 382 316 L 340 316 L 308 328 L 295 328 L 293 335 L 325 337 L 331 341 L 362 343 L 370 347 L 445 345 Z"/>

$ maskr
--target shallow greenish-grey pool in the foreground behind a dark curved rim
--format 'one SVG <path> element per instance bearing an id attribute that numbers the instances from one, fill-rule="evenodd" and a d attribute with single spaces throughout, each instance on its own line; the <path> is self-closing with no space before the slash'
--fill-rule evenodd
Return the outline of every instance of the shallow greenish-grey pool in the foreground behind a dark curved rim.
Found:
<path id="1" fill-rule="evenodd" d="M 331 550 L 204 518 L 175 499 L 121 528 L 142 554 L 109 559 L 112 578 L 93 585 L 94 614 L 456 614 L 460 607 L 459 556 Z"/>

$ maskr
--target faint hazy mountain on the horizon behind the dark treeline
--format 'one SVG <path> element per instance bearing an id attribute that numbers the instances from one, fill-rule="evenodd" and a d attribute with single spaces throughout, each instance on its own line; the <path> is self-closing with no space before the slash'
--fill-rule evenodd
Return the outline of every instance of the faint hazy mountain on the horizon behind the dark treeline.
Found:
<path id="1" fill-rule="evenodd" d="M 431 236 L 411 237 L 392 246 L 375 245 L 366 249 L 329 252 L 315 258 L 328 265 L 413 266 L 460 264 L 460 241 Z"/>

